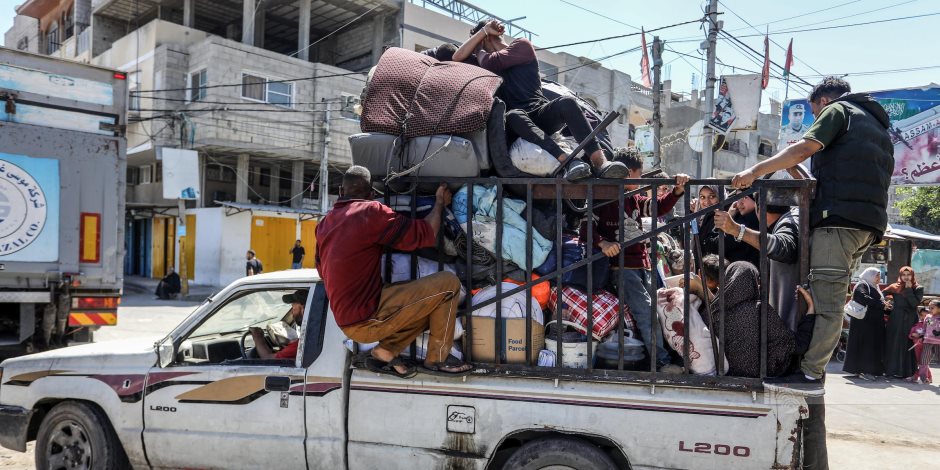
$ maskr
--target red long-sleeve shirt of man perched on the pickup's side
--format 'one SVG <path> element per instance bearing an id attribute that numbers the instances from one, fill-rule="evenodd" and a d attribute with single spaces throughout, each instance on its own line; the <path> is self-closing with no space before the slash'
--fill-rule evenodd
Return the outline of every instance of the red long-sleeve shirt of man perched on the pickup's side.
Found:
<path id="1" fill-rule="evenodd" d="M 317 269 L 339 326 L 375 314 L 382 295 L 383 248 L 414 251 L 437 241 L 427 222 L 362 199 L 337 201 L 317 224 L 316 237 Z"/>

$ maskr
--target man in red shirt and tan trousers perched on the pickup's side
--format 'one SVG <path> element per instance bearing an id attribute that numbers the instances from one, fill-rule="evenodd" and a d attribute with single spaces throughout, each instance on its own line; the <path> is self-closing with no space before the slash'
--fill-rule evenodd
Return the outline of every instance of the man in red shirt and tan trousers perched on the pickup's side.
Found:
<path id="1" fill-rule="evenodd" d="M 448 358 L 460 296 L 457 276 L 443 271 L 383 287 L 380 275 L 385 248 L 414 251 L 436 246 L 450 191 L 441 184 L 434 208 L 415 220 L 372 200 L 371 180 L 365 167 L 349 167 L 339 201 L 317 224 L 316 264 L 336 324 L 353 341 L 379 343 L 367 360 L 370 370 L 414 376 L 416 368 L 399 354 L 430 329 L 424 372 L 465 375 L 473 366 Z"/>

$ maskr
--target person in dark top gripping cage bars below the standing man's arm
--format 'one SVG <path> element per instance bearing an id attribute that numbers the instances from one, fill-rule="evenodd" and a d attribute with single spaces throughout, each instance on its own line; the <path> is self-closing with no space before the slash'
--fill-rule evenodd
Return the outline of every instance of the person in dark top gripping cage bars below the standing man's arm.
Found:
<path id="1" fill-rule="evenodd" d="M 751 214 L 759 213 L 759 209 L 753 204 L 753 199 L 746 197 L 735 203 L 735 206 L 739 208 L 739 213 L 742 212 L 742 207 Z M 735 222 L 728 212 L 719 210 L 715 211 L 715 227 L 733 236 L 736 242 L 746 243 L 760 254 L 759 225 L 756 230 L 748 228 L 745 223 Z M 725 247 L 727 246 L 726 244 Z M 767 259 L 770 305 L 780 314 L 787 328 L 796 331 L 799 312 L 793 289 L 800 277 L 800 224 L 796 214 L 790 211 L 790 206 L 767 205 Z M 760 268 L 760 263 L 756 266 Z"/>

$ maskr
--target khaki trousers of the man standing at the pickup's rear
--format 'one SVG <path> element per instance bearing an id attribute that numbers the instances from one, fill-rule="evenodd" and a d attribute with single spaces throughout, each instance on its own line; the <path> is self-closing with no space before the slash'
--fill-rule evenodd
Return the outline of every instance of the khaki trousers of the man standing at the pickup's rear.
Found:
<path id="1" fill-rule="evenodd" d="M 874 240 L 869 231 L 849 228 L 818 228 L 810 235 L 809 281 L 816 304 L 816 326 L 800 363 L 804 374 L 818 379 L 826 371 L 842 334 L 842 309 L 852 271 Z"/>

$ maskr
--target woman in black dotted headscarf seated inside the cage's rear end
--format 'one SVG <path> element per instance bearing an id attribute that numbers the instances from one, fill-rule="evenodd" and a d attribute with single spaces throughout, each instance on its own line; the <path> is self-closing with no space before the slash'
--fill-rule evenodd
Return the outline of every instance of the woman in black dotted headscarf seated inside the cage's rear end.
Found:
<path id="1" fill-rule="evenodd" d="M 757 268 L 737 261 L 725 271 L 725 286 L 712 301 L 711 313 L 725 301 L 725 357 L 728 375 L 760 377 L 760 276 Z M 706 323 L 707 313 L 701 312 Z M 715 315 L 715 328 L 718 328 Z M 794 333 L 783 324 L 773 307 L 767 305 L 767 377 L 783 375 L 790 368 L 796 352 Z"/>

